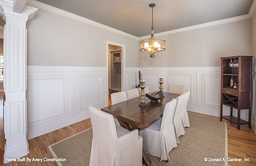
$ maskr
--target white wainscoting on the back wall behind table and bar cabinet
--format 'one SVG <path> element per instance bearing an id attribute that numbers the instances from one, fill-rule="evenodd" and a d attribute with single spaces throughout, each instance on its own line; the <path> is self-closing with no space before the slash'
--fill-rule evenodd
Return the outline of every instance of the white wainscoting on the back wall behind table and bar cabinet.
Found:
<path id="1" fill-rule="evenodd" d="M 159 90 L 159 77 L 164 77 L 164 92 L 170 84 L 183 85 L 185 91 L 191 92 L 189 111 L 220 116 L 220 67 L 141 67 L 138 70 L 149 91 Z M 224 106 L 223 115 L 229 112 L 230 108 Z M 234 109 L 233 115 L 237 116 L 237 110 Z M 241 119 L 248 121 L 248 110 L 241 110 Z"/>

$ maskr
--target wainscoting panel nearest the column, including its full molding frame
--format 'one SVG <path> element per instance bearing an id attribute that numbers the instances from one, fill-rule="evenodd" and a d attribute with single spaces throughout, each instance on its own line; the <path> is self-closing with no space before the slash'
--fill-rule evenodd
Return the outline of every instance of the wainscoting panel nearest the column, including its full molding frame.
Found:
<path id="1" fill-rule="evenodd" d="M 28 72 L 28 131 L 70 117 L 70 73 Z"/>

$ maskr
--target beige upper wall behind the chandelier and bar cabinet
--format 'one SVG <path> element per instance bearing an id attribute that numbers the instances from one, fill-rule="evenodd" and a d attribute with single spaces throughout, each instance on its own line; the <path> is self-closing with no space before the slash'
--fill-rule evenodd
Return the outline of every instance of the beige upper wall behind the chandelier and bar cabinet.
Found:
<path id="1" fill-rule="evenodd" d="M 138 51 L 138 66 L 220 66 L 219 57 L 252 55 L 251 31 L 251 19 L 246 19 L 159 36 L 156 39 L 166 40 L 166 50 L 157 53 L 155 58 Z"/>

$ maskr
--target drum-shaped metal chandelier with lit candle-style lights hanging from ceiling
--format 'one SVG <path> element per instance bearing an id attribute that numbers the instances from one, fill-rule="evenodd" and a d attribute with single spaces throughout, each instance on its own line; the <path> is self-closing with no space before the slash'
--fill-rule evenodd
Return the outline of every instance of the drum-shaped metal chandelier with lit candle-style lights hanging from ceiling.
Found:
<path id="1" fill-rule="evenodd" d="M 155 57 L 156 52 L 165 50 L 165 41 L 161 39 L 154 39 L 154 27 L 153 27 L 153 7 L 154 3 L 149 4 L 152 8 L 152 27 L 151 27 L 151 38 L 148 40 L 140 41 L 140 51 L 149 53 L 150 57 Z"/>

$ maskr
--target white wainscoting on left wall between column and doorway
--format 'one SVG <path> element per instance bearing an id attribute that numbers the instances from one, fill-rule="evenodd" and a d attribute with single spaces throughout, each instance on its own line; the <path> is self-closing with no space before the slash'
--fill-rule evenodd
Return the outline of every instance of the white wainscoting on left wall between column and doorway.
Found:
<path id="1" fill-rule="evenodd" d="M 107 106 L 106 67 L 27 67 L 28 139 L 90 118 Z"/>

